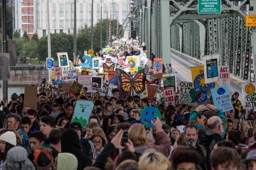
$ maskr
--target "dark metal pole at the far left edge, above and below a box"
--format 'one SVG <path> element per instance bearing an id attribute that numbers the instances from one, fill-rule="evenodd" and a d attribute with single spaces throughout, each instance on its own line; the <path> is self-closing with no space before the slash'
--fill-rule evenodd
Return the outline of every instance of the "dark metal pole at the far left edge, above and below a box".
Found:
<path id="1" fill-rule="evenodd" d="M 2 53 L 7 53 L 7 37 L 6 37 L 6 0 L 2 0 Z M 2 80 L 2 100 L 7 100 L 8 82 Z"/>

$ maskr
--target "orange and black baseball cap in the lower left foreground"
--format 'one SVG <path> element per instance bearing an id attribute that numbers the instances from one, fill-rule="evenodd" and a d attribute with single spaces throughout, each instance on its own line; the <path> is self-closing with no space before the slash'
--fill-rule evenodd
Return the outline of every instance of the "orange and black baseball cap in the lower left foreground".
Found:
<path id="1" fill-rule="evenodd" d="M 34 152 L 34 163 L 36 166 L 45 167 L 51 164 L 53 160 L 53 154 L 49 148 L 40 147 Z"/>

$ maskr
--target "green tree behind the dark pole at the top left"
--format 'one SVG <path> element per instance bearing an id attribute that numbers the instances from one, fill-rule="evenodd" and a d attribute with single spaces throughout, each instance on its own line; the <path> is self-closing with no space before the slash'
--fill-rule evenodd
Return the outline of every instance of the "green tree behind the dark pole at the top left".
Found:
<path id="1" fill-rule="evenodd" d="M 0 5 L 0 13 L 2 13 L 2 5 Z M 0 28 L 2 28 L 2 15 L 0 15 Z M 13 37 L 12 29 L 12 9 L 9 6 L 6 6 L 6 34 L 10 39 Z"/>

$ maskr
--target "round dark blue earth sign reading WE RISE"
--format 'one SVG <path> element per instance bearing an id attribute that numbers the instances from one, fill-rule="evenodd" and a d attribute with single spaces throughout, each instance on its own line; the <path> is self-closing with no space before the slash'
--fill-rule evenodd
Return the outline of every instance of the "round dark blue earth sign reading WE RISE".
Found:
<path id="1" fill-rule="evenodd" d="M 207 100 L 207 93 L 200 87 L 195 87 L 189 91 L 190 98 L 192 103 L 203 103 Z"/>

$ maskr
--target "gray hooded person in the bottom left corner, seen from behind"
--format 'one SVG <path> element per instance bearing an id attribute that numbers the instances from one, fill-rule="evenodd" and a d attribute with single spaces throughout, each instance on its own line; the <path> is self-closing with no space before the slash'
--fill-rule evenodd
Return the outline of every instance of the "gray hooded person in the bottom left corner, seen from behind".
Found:
<path id="1" fill-rule="evenodd" d="M 3 170 L 35 170 L 28 159 L 28 152 L 21 146 L 15 146 L 7 152 L 6 161 L 1 165 Z"/>

